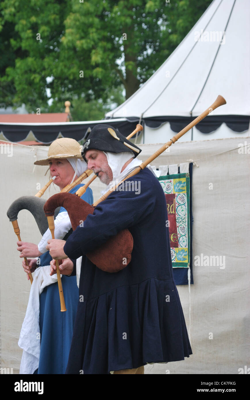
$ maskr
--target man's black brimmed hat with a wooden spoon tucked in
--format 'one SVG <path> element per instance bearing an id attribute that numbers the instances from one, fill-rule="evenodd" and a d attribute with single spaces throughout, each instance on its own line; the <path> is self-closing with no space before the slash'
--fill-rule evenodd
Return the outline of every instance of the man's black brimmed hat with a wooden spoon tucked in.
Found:
<path id="1" fill-rule="evenodd" d="M 115 131 L 116 136 L 119 138 L 114 138 L 109 132 L 108 128 L 111 128 Z M 127 143 L 129 146 L 133 148 L 129 148 L 123 143 Z M 124 151 L 130 151 L 134 153 L 135 157 L 141 152 L 141 149 L 123 136 L 119 130 L 113 128 L 113 126 L 106 124 L 98 124 L 93 127 L 89 136 L 87 137 L 87 141 L 83 144 L 81 155 L 85 158 L 85 152 L 87 150 L 101 150 L 110 153 L 121 153 Z M 134 150 L 133 150 L 134 149 Z M 137 151 L 136 151 L 137 150 Z"/>

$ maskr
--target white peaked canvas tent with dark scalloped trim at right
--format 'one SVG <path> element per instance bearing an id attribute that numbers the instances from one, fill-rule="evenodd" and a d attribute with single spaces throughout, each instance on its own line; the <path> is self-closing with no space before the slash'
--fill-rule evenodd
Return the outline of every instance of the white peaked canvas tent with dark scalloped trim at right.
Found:
<path id="1" fill-rule="evenodd" d="M 180 140 L 249 136 L 249 38 L 249 0 L 214 0 L 163 65 L 106 118 L 137 117 L 146 124 L 137 143 L 166 142 L 171 127 L 178 132 L 178 121 L 200 115 L 221 94 L 227 104 Z"/>

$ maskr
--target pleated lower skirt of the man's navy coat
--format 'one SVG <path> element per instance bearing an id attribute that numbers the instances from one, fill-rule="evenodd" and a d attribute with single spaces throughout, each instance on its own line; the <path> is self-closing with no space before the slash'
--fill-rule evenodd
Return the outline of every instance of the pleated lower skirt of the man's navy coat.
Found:
<path id="1" fill-rule="evenodd" d="M 78 302 L 67 374 L 109 374 L 192 354 L 172 279 L 149 278 Z"/>

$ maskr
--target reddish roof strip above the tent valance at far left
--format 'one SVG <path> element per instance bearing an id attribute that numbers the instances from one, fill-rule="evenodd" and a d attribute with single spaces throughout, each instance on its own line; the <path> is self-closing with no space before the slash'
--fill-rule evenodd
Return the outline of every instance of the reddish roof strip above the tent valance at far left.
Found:
<path id="1" fill-rule="evenodd" d="M 37 122 L 67 122 L 68 114 L 54 112 L 47 114 L 0 114 L 0 122 L 37 123 Z"/>

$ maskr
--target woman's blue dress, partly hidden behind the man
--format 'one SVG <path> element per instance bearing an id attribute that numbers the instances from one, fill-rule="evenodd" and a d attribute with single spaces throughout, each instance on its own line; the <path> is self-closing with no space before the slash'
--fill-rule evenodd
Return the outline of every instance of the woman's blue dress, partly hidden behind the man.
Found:
<path id="1" fill-rule="evenodd" d="M 82 184 L 75 186 L 69 193 L 75 193 Z M 93 204 L 90 188 L 81 196 Z M 65 211 L 61 207 L 60 212 Z M 41 266 L 49 265 L 52 260 L 49 252 L 40 257 Z M 44 288 L 40 295 L 40 334 L 41 349 L 39 367 L 35 374 L 64 374 L 69 356 L 75 314 L 79 299 L 79 289 L 75 276 L 62 276 L 63 295 L 67 311 L 61 312 L 58 283 Z"/>

